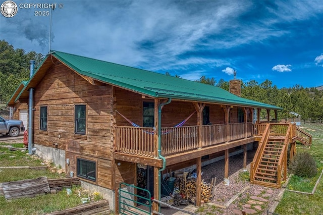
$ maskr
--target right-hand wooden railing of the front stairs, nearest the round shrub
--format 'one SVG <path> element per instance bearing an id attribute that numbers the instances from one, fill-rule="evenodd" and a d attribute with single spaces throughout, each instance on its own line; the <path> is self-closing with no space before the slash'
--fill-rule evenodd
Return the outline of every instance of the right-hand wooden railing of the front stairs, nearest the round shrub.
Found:
<path id="1" fill-rule="evenodd" d="M 287 178 L 287 151 L 288 151 L 288 144 L 290 142 L 290 138 L 292 138 L 292 129 L 293 124 L 289 124 L 284 145 L 281 151 L 281 155 L 279 156 L 278 164 L 277 164 L 277 185 L 281 186 L 282 181 L 282 167 L 284 168 L 284 181 Z"/>

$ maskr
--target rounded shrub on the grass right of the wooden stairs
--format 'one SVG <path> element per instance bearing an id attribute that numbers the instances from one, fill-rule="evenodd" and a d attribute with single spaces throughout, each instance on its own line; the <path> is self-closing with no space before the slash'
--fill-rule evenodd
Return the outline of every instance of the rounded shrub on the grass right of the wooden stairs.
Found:
<path id="1" fill-rule="evenodd" d="M 317 173 L 316 163 L 307 151 L 298 152 L 291 160 L 289 169 L 300 177 L 313 177 Z"/>

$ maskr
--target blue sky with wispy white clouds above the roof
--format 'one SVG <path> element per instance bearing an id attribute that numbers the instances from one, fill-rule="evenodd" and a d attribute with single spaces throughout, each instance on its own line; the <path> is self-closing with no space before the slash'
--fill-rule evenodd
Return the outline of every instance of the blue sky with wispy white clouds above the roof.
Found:
<path id="1" fill-rule="evenodd" d="M 50 9 L 25 4 L 50 3 L 54 50 L 189 80 L 229 81 L 236 70 L 244 82 L 323 85 L 321 1 L 14 2 L 0 39 L 26 51 L 48 53 L 50 16 L 35 14 Z"/>

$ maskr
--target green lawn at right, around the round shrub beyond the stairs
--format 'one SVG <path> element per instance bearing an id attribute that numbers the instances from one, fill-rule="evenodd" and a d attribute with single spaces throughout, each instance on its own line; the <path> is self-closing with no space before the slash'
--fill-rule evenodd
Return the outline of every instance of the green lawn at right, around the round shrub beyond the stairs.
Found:
<path id="1" fill-rule="evenodd" d="M 312 145 L 310 149 L 297 148 L 296 153 L 300 150 L 307 150 L 315 159 L 318 172 L 315 177 L 301 178 L 293 176 L 288 184 L 288 189 L 302 192 L 311 192 L 317 178 L 322 172 L 323 164 L 323 125 L 305 124 L 302 130 L 312 135 Z M 283 198 L 277 206 L 275 213 L 278 214 L 323 214 L 323 179 L 320 180 L 314 195 L 304 195 L 294 192 L 285 191 Z"/>

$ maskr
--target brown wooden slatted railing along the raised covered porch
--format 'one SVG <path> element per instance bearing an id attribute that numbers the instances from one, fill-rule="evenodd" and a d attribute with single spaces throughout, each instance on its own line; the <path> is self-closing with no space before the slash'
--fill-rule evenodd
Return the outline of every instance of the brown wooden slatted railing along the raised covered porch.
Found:
<path id="1" fill-rule="evenodd" d="M 202 147 L 252 136 L 252 123 L 202 126 Z M 199 147 L 199 126 L 161 128 L 161 153 L 174 154 Z M 153 128 L 116 126 L 115 150 L 154 155 Z"/>

